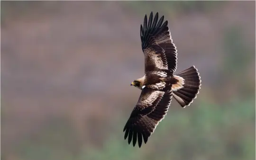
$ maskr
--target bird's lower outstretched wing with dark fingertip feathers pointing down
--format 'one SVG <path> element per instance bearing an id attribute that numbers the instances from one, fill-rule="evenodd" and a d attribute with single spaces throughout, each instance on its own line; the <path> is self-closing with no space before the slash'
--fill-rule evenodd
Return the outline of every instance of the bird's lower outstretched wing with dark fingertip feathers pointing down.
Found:
<path id="1" fill-rule="evenodd" d="M 172 93 L 148 88 L 142 89 L 141 95 L 124 127 L 124 138 L 141 147 L 142 139 L 146 143 L 157 124 L 164 118 L 171 104 Z M 143 138 L 142 138 L 143 137 Z"/>

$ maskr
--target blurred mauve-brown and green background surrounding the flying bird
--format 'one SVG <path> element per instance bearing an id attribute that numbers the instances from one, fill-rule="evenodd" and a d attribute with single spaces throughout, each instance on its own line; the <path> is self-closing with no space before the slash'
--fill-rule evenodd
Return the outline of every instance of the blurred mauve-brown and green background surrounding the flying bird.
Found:
<path id="1" fill-rule="evenodd" d="M 123 127 L 151 11 L 202 86 L 139 149 Z M 1 160 L 255 160 L 255 18 L 255 1 L 1 1 Z"/>

